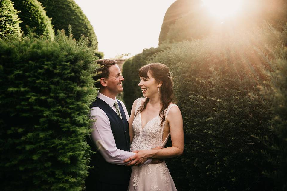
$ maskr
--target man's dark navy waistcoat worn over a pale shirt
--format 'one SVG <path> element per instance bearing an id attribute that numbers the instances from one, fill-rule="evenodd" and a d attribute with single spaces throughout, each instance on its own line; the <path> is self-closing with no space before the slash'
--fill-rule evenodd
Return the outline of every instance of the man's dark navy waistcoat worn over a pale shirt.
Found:
<path id="1" fill-rule="evenodd" d="M 123 119 L 100 98 L 97 98 L 97 101 L 92 103 L 91 108 L 99 107 L 108 116 L 117 149 L 130 151 L 129 123 L 120 101 L 117 100 L 117 102 Z M 131 176 L 131 167 L 106 162 L 100 152 L 95 148 L 95 144 L 91 143 L 89 139 L 88 143 L 91 146 L 91 150 L 97 152 L 91 156 L 90 166 L 94 168 L 89 170 L 90 175 L 97 178 L 98 181 L 110 184 L 128 184 Z"/>

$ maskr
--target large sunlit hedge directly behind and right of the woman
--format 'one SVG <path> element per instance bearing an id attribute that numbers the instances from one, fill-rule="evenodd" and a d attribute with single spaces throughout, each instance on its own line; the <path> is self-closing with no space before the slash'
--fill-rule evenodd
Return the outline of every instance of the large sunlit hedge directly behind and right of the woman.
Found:
<path id="1" fill-rule="evenodd" d="M 178 190 L 271 190 L 272 181 L 262 174 L 271 168 L 260 152 L 265 145 L 253 137 L 270 135 L 270 111 L 249 93 L 258 90 L 266 80 L 262 70 L 270 67 L 255 48 L 264 50 L 280 38 L 265 24 L 252 32 L 174 43 L 153 56 L 152 62 L 174 73 L 184 120 L 184 154 L 167 161 Z"/>

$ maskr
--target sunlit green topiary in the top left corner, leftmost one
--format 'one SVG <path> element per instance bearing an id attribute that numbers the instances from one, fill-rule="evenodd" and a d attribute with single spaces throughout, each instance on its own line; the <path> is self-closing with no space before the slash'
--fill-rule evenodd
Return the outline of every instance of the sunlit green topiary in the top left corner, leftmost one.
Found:
<path id="1" fill-rule="evenodd" d="M 10 35 L 21 37 L 19 23 L 18 12 L 13 3 L 10 0 L 0 0 L 0 38 Z"/>

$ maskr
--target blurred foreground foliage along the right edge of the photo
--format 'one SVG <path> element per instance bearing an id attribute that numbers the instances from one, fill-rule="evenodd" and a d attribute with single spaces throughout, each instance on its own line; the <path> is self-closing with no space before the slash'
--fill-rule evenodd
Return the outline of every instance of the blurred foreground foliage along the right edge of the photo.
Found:
<path id="1" fill-rule="evenodd" d="M 267 70 L 269 80 L 261 86 L 259 98 L 272 112 L 271 135 L 259 137 L 267 149 L 264 154 L 272 163 L 272 168 L 264 174 L 275 182 L 274 190 L 287 189 L 287 47 L 278 46 L 272 50 L 273 59 L 267 59 L 271 71 Z"/>

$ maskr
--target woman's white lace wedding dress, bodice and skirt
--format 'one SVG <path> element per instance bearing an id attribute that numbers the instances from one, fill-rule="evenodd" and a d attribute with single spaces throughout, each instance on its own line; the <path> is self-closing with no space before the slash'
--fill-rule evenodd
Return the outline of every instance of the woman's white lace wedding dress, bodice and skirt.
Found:
<path id="1" fill-rule="evenodd" d="M 138 98 L 135 111 L 141 106 L 145 98 Z M 165 116 L 172 106 L 167 107 Z M 161 117 L 157 115 L 150 120 L 143 128 L 141 125 L 141 113 L 135 116 L 132 123 L 134 138 L 131 144 L 131 151 L 149 150 L 155 147 L 164 147 L 170 133 L 164 129 L 166 121 L 161 126 Z M 133 191 L 173 191 L 176 190 L 170 172 L 165 161 L 158 164 L 132 166 L 132 175 L 129 181 L 129 189 Z"/>

